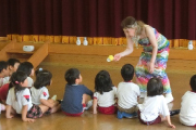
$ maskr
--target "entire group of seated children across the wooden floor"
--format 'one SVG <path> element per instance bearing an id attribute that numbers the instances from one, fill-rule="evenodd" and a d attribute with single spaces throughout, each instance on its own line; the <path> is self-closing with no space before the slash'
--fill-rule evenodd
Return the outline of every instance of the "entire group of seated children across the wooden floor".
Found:
<path id="1" fill-rule="evenodd" d="M 192 91 L 187 91 L 182 98 L 181 110 L 170 112 L 162 95 L 162 82 L 156 77 L 148 81 L 147 96 L 143 104 L 138 104 L 140 91 L 132 81 L 134 67 L 131 64 L 122 66 L 123 81 L 118 87 L 112 83 L 107 70 L 100 70 L 95 77 L 95 92 L 82 84 L 82 75 L 77 68 L 68 69 L 64 75 L 68 83 L 62 101 L 49 99 L 47 87 L 52 82 L 52 74 L 45 69 L 38 69 L 35 74 L 34 82 L 30 78 L 34 76 L 34 66 L 29 62 L 20 63 L 14 58 L 0 62 L 0 110 L 4 110 L 7 105 L 7 118 L 21 114 L 24 121 L 34 121 L 35 118 L 56 113 L 60 108 L 66 116 L 81 116 L 93 106 L 94 114 L 117 114 L 119 119 L 138 117 L 145 125 L 167 120 L 171 128 L 175 126 L 171 123 L 170 116 L 180 113 L 183 125 L 196 127 L 196 75 L 191 78 Z"/>

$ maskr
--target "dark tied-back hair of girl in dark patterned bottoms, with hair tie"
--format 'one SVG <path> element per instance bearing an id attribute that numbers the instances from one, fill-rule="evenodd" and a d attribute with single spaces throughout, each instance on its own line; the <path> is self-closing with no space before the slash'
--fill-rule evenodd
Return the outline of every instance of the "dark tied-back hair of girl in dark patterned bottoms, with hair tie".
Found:
<path id="1" fill-rule="evenodd" d="M 13 73 L 10 78 L 10 83 L 12 84 L 12 87 L 11 87 L 11 84 L 9 87 L 11 87 L 11 88 L 14 87 L 14 93 L 15 93 L 16 101 L 17 101 L 16 92 L 26 89 L 25 87 L 21 86 L 21 82 L 24 82 L 26 78 L 27 78 L 27 75 L 24 72 L 20 72 L 20 70 Z M 11 88 L 9 88 L 9 89 L 11 89 Z"/>

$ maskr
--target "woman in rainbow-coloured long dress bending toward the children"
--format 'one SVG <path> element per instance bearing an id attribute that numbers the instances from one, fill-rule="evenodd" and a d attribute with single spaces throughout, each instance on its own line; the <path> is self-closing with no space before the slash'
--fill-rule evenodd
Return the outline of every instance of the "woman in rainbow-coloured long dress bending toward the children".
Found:
<path id="1" fill-rule="evenodd" d="M 144 51 L 135 67 L 136 81 L 140 88 L 143 98 L 146 94 L 146 87 L 149 79 L 157 77 L 160 78 L 163 83 L 167 103 L 172 102 L 173 96 L 170 81 L 164 72 L 169 55 L 170 43 L 168 39 L 151 26 L 136 21 L 132 16 L 123 20 L 121 26 L 126 36 L 127 47 L 125 51 L 114 55 L 114 61 L 119 61 L 121 57 L 131 54 L 134 50 L 134 43 L 136 47 L 138 43 L 143 46 Z"/>

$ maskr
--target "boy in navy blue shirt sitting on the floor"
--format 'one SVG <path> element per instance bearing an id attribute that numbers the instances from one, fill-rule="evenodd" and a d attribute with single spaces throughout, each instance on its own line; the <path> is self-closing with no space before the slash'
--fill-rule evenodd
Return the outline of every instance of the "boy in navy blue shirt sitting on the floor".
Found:
<path id="1" fill-rule="evenodd" d="M 88 101 L 87 103 L 87 95 L 93 99 L 94 93 L 84 84 L 79 84 L 82 82 L 82 76 L 77 68 L 66 70 L 64 78 L 68 83 L 61 108 L 68 116 L 81 116 L 85 107 L 89 108 L 93 105 L 93 101 Z"/>

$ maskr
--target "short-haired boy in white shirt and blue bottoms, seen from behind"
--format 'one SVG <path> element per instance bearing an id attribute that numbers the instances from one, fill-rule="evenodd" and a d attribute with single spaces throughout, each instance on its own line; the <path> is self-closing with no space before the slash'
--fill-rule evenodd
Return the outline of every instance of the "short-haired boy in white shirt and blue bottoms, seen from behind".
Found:
<path id="1" fill-rule="evenodd" d="M 133 118 L 137 116 L 137 99 L 140 95 L 139 87 L 132 82 L 134 67 L 125 64 L 121 68 L 124 81 L 118 86 L 118 118 Z"/>

